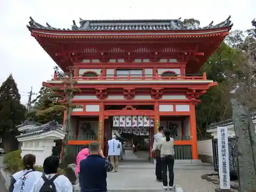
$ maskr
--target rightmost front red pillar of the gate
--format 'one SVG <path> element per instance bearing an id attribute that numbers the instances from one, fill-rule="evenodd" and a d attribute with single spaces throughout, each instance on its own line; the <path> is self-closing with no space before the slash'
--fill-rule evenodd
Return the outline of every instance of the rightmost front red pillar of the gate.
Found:
<path id="1" fill-rule="evenodd" d="M 191 104 L 190 104 L 189 122 L 190 122 L 192 159 L 198 159 L 197 124 L 196 124 L 196 112 L 195 112 L 195 103 L 194 102 L 191 102 Z"/>

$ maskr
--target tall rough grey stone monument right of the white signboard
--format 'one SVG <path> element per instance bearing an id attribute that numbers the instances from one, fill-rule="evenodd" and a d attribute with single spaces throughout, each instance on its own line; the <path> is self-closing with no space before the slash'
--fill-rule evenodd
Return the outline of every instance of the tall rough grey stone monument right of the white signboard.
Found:
<path id="1" fill-rule="evenodd" d="M 237 138 L 239 191 L 256 190 L 256 133 L 249 111 L 231 99 L 232 120 Z"/>

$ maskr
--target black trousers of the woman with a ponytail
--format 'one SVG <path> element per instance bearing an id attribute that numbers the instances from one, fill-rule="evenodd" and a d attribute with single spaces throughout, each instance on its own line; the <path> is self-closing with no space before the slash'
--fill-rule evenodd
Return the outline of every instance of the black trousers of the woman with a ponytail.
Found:
<path id="1" fill-rule="evenodd" d="M 169 186 L 174 185 L 174 156 L 161 157 L 163 186 L 167 186 L 167 167 L 169 171 Z"/>

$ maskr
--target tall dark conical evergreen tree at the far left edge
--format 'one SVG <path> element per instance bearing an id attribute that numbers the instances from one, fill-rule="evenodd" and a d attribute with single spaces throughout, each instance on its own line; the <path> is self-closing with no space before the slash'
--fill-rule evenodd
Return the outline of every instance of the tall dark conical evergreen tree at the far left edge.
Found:
<path id="1" fill-rule="evenodd" d="M 16 125 L 25 120 L 25 113 L 26 107 L 20 103 L 17 84 L 10 74 L 0 87 L 0 135 L 6 151 L 17 148 L 17 145 L 15 146 L 15 136 L 18 134 Z M 13 139 L 14 143 L 11 143 Z"/>

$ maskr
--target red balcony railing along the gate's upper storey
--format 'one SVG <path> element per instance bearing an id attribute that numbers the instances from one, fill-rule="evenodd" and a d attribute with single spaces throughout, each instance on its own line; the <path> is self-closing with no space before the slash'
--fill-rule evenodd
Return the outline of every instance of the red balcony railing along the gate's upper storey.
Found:
<path id="1" fill-rule="evenodd" d="M 53 80 L 61 80 L 64 76 L 57 77 L 54 75 Z M 106 75 L 100 74 L 95 76 L 73 75 L 74 80 L 207 80 L 206 74 L 185 74 L 185 75 L 159 75 L 159 74 L 145 74 L 145 75 Z"/>

